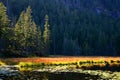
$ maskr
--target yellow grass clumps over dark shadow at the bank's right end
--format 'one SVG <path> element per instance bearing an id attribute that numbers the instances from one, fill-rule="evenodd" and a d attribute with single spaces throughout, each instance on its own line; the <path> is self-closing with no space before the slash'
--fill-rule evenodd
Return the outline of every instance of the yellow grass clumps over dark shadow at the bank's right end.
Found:
<path id="1" fill-rule="evenodd" d="M 84 60 L 77 62 L 76 68 L 80 69 L 94 69 L 94 70 L 112 70 L 120 67 L 120 61 L 106 61 L 106 60 Z"/>

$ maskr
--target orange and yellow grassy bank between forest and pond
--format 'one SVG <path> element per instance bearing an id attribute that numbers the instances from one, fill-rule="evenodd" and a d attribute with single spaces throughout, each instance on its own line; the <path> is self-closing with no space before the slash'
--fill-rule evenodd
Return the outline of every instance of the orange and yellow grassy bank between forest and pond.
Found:
<path id="1" fill-rule="evenodd" d="M 44 68 L 68 66 L 69 68 L 93 70 L 119 70 L 118 57 L 62 57 L 62 58 L 9 58 L 0 59 L 0 65 L 18 65 L 20 68 Z"/>

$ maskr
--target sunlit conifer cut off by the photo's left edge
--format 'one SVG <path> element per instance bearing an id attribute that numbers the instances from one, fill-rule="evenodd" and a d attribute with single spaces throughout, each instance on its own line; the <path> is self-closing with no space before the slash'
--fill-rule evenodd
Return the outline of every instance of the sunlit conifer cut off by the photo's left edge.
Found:
<path id="1" fill-rule="evenodd" d="M 7 16 L 7 9 L 0 3 L 0 47 L 7 49 L 11 46 L 13 39 L 13 29 L 10 27 L 10 20 Z"/>

